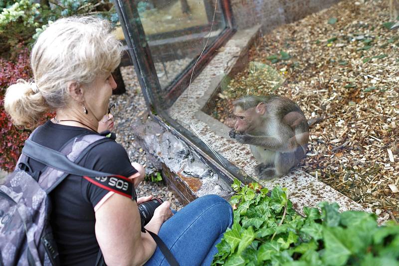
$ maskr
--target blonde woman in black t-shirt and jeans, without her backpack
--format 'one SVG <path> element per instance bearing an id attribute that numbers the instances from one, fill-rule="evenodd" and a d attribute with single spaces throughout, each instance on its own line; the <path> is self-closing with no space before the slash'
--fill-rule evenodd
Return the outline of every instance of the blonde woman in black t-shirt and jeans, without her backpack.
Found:
<path id="1" fill-rule="evenodd" d="M 4 107 L 15 125 L 34 127 L 49 110 L 56 116 L 41 125 L 32 140 L 60 150 L 80 134 L 98 134 L 116 88 L 111 72 L 120 63 L 122 45 L 105 20 L 63 18 L 40 34 L 31 52 L 34 82 L 19 80 L 7 89 Z M 40 175 L 45 167 L 28 161 Z M 98 171 L 134 180 L 144 178 L 127 152 L 113 140 L 94 146 L 79 162 Z M 94 265 L 101 249 L 112 265 L 166 265 L 148 233 L 141 232 L 137 205 L 152 196 L 132 201 L 69 175 L 51 194 L 51 226 L 62 265 Z M 215 195 L 201 197 L 173 215 L 168 201 L 159 206 L 146 229 L 158 234 L 182 265 L 209 265 L 215 245 L 231 226 L 229 204 Z"/>

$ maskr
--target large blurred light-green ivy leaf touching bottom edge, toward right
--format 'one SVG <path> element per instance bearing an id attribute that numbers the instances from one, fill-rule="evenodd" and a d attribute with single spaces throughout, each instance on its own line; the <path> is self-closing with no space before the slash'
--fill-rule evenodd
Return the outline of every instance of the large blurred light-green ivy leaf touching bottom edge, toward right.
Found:
<path id="1" fill-rule="evenodd" d="M 345 247 L 339 238 L 337 238 L 337 231 L 339 234 L 342 234 L 343 229 L 323 228 L 323 239 L 326 249 L 324 250 L 322 260 L 326 265 L 345 265 L 351 255 L 351 252 Z"/>

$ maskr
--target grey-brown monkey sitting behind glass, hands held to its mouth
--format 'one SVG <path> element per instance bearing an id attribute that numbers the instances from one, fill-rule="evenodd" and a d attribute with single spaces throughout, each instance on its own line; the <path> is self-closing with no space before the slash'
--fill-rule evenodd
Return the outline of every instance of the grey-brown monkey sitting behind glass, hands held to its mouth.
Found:
<path id="1" fill-rule="evenodd" d="M 271 180 L 286 175 L 306 156 L 309 125 L 302 110 L 286 97 L 243 96 L 233 102 L 229 136 L 249 144 L 257 162 L 253 175 Z"/>

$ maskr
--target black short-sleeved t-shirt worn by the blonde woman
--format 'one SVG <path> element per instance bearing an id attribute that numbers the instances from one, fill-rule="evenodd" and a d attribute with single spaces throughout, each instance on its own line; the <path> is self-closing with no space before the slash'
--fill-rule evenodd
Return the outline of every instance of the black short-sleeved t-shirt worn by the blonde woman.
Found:
<path id="1" fill-rule="evenodd" d="M 38 128 L 32 140 L 46 147 L 61 150 L 72 137 L 93 134 L 84 128 L 57 125 L 47 121 Z M 28 160 L 32 171 L 45 165 Z M 79 165 L 97 171 L 129 177 L 137 170 L 130 164 L 126 150 L 114 140 L 94 146 Z M 61 265 L 94 265 L 99 246 L 94 231 L 94 206 L 108 193 L 81 176 L 68 175 L 51 193 L 51 227 L 57 242 Z"/>

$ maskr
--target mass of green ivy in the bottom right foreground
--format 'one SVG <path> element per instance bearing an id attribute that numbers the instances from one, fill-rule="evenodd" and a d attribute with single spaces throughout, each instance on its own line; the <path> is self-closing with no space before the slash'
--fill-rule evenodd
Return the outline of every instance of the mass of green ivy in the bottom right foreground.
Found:
<path id="1" fill-rule="evenodd" d="M 342 266 L 399 265 L 399 226 L 379 227 L 375 214 L 339 213 L 337 203 L 292 209 L 284 188 L 268 190 L 238 180 L 230 204 L 234 223 L 216 245 L 216 265 Z"/>

